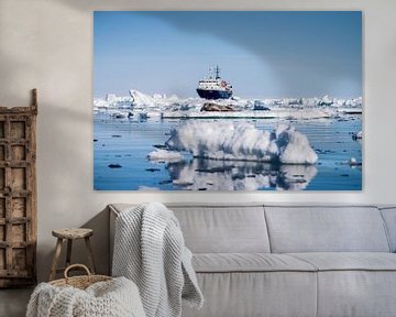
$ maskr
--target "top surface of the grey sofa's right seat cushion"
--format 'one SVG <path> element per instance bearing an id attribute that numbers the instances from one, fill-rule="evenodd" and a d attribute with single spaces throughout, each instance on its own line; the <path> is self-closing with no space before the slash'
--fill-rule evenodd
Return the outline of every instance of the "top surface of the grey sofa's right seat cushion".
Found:
<path id="1" fill-rule="evenodd" d="M 288 253 L 318 271 L 396 271 L 396 254 L 385 252 Z"/>

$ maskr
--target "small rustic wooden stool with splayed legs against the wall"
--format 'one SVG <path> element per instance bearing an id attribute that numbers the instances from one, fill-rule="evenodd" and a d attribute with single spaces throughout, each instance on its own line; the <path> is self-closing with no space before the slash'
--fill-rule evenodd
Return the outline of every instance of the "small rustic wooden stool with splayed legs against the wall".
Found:
<path id="1" fill-rule="evenodd" d="M 92 274 L 95 274 L 95 263 L 94 263 L 94 253 L 92 247 L 89 241 L 89 237 L 94 234 L 92 229 L 55 229 L 52 231 L 53 236 L 57 238 L 56 247 L 55 247 L 55 254 L 53 260 L 53 265 L 51 270 L 50 281 L 55 280 L 57 272 L 63 272 L 67 266 L 70 265 L 70 258 L 72 258 L 72 245 L 73 240 L 84 239 L 88 250 L 88 263 L 89 270 Z M 67 253 L 66 253 L 66 266 L 65 267 L 57 267 L 57 263 L 59 261 L 62 244 L 64 239 L 67 240 Z"/>

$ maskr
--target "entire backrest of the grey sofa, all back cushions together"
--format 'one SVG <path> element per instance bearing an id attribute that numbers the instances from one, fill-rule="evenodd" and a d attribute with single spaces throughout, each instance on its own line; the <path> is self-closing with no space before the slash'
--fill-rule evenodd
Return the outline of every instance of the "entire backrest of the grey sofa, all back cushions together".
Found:
<path id="1" fill-rule="evenodd" d="M 111 205 L 122 212 L 133 205 Z M 194 253 L 396 252 L 396 207 L 166 204 Z"/>

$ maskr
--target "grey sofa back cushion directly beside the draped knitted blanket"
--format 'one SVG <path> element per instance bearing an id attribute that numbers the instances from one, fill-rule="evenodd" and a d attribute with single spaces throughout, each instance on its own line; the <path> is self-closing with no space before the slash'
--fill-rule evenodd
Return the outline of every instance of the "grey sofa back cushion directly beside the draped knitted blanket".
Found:
<path id="1" fill-rule="evenodd" d="M 168 206 L 194 253 L 270 252 L 263 206 Z"/>

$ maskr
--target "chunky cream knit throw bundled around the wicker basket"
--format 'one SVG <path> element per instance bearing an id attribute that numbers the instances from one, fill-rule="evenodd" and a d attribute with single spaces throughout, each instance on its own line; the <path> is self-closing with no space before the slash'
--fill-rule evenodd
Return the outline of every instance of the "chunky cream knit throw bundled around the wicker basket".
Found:
<path id="1" fill-rule="evenodd" d="M 145 317 L 136 285 L 124 278 L 98 282 L 86 291 L 41 283 L 26 317 Z"/>

